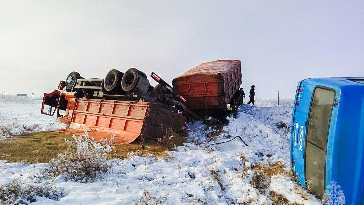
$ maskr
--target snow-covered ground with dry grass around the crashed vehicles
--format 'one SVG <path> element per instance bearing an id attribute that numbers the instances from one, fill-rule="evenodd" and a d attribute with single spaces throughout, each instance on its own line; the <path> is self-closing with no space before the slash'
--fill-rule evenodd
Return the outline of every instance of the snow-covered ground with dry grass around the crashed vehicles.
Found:
<path id="1" fill-rule="evenodd" d="M 40 101 L 0 101 L 0 125 L 11 134 L 58 129 L 63 124 L 39 114 Z M 64 175 L 48 178 L 48 163 L 26 164 L 0 161 L 0 185 L 21 179 L 28 185 L 50 187 L 48 197 L 36 196 L 34 202 L 17 204 L 320 204 L 289 177 L 289 128 L 292 107 L 260 108 L 243 105 L 237 118 L 228 117 L 224 132 L 209 138 L 215 130 L 201 122 L 190 123 L 184 146 L 167 151 L 169 156 L 130 154 L 126 159 L 109 160 L 112 169 L 104 179 L 83 183 Z M 19 125 L 17 125 L 19 124 Z M 3 134 L 5 137 L 6 134 Z M 246 143 L 247 146 L 235 136 Z M 231 140 L 233 139 L 233 140 Z M 231 140 L 230 142 L 226 142 Z M 216 144 L 220 142 L 226 142 Z M 283 173 L 272 174 L 264 185 L 257 185 L 257 167 L 275 163 L 285 166 Z M 1 193 L 1 190 L 0 190 Z"/>

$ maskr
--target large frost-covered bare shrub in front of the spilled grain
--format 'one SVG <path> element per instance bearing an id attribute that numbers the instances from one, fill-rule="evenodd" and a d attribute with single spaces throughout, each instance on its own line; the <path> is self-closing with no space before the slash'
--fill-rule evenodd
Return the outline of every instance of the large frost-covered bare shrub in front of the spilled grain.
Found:
<path id="1" fill-rule="evenodd" d="M 87 131 L 82 136 L 73 135 L 72 138 L 74 140 L 65 139 L 68 144 L 67 150 L 59 153 L 57 158 L 51 159 L 45 172 L 50 177 L 66 173 L 66 179 L 84 183 L 98 177 L 105 178 L 110 168 L 107 159 L 114 150 L 114 135 L 108 141 L 100 140 L 100 143 L 90 139 Z"/>

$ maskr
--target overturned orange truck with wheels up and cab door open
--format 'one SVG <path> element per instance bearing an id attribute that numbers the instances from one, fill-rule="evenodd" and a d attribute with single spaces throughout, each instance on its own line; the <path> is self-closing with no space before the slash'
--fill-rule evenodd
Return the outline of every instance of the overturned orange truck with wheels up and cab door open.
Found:
<path id="1" fill-rule="evenodd" d="M 157 86 L 151 86 L 146 74 L 135 68 L 125 73 L 112 69 L 104 79 L 86 79 L 71 72 L 57 89 L 44 94 L 41 113 L 53 116 L 57 112 L 58 119 L 69 124 L 56 132 L 82 135 L 87 130 L 95 140 L 114 134 L 115 144 L 128 144 L 138 137 L 161 138 L 169 130 L 181 131 L 186 120 L 203 120 L 185 106 L 186 99 L 172 86 L 155 73 L 151 77 Z"/>

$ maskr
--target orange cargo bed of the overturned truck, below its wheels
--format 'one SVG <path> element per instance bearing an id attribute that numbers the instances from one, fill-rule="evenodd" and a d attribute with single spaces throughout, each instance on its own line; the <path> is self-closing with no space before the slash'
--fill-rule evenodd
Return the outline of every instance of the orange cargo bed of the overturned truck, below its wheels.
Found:
<path id="1" fill-rule="evenodd" d="M 56 132 L 82 135 L 87 130 L 95 140 L 114 134 L 115 145 L 131 143 L 139 136 L 162 138 L 168 130 L 181 130 L 186 120 L 163 104 L 86 98 L 68 98 L 66 112 L 60 115 L 58 110 L 58 118 L 70 127 Z"/>

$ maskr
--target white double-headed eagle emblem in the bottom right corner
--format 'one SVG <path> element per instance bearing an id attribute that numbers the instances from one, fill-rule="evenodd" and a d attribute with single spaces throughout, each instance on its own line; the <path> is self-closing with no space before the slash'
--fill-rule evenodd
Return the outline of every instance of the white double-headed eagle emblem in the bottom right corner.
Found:
<path id="1" fill-rule="evenodd" d="M 323 202 L 326 205 L 345 205 L 345 196 L 343 190 L 340 189 L 340 185 L 336 185 L 336 181 L 333 180 L 331 185 L 326 186 L 326 190 L 323 197 Z"/>

